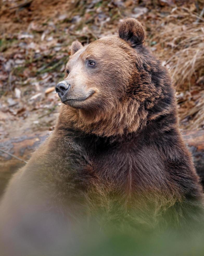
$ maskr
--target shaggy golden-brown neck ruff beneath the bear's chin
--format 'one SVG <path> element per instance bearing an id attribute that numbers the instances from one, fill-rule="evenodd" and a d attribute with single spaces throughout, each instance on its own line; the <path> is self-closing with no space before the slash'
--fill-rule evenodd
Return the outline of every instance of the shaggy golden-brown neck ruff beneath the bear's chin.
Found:
<path id="1" fill-rule="evenodd" d="M 146 125 L 148 112 L 136 100 L 126 100 L 108 111 L 88 112 L 70 106 L 61 107 L 55 130 L 66 135 L 68 129 L 100 137 L 123 136 Z"/>

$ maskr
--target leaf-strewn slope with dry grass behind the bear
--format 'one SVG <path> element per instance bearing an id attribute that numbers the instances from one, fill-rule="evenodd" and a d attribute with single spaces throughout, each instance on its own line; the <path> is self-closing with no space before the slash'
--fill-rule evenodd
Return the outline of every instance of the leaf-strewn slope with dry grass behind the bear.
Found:
<path id="1" fill-rule="evenodd" d="M 204 129 L 204 18 L 201 1 L 2 1 L 0 139 L 52 130 L 74 40 L 117 35 L 136 18 L 146 44 L 173 77 L 181 129 Z"/>

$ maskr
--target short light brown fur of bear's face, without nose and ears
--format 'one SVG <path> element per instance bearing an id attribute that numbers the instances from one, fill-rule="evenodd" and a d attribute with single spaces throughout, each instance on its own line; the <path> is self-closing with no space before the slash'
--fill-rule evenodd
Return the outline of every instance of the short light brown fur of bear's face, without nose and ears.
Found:
<path id="1" fill-rule="evenodd" d="M 124 96 L 134 68 L 134 60 L 132 58 L 131 63 L 131 56 L 121 50 L 121 41 L 116 37 L 103 38 L 70 57 L 66 65 L 69 73 L 65 76 L 65 81 L 71 84 L 68 98 L 76 98 L 80 94 L 82 97 L 90 91 L 94 92 L 90 100 L 78 102 L 77 108 L 98 110 Z M 131 50 L 130 48 L 129 51 Z M 95 61 L 95 66 L 88 66 L 88 61 Z"/>

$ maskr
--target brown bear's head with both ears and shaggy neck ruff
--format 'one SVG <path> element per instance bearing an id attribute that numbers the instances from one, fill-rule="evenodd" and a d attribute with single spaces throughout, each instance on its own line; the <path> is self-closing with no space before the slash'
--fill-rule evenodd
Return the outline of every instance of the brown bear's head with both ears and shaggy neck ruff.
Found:
<path id="1" fill-rule="evenodd" d="M 143 127 L 161 114 L 152 108 L 171 87 L 166 69 L 144 45 L 143 27 L 135 19 L 122 23 L 118 37 L 86 46 L 73 42 L 65 72 L 56 86 L 64 103 L 58 124 L 100 136 Z"/>

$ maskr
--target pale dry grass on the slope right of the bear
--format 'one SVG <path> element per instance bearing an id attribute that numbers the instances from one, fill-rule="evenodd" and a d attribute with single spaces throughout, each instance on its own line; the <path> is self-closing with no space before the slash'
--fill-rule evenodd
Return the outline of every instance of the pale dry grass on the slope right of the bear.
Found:
<path id="1" fill-rule="evenodd" d="M 188 97 L 184 97 L 180 104 L 181 121 L 190 118 L 185 128 L 203 128 L 204 19 L 196 15 L 195 10 L 174 8 L 155 34 L 153 40 L 162 49 L 159 56 L 165 60 L 164 65 L 169 68 L 176 90 L 184 95 L 188 92 Z M 193 102 L 191 107 L 188 107 L 189 101 Z"/>

